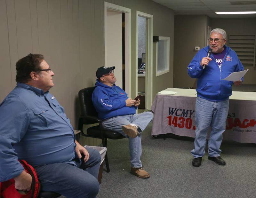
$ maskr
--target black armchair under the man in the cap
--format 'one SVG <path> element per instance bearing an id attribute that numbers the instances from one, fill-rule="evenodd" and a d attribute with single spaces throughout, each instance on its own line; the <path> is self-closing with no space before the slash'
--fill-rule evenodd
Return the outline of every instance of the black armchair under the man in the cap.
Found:
<path id="1" fill-rule="evenodd" d="M 81 106 L 81 117 L 78 121 L 78 130 L 81 131 L 81 135 L 90 138 L 98 138 L 102 140 L 103 147 L 107 147 L 107 141 L 109 139 L 123 139 L 125 138 L 118 132 L 103 129 L 101 122 L 102 120 L 98 118 L 98 113 L 96 112 L 92 104 L 92 92 L 95 87 L 87 87 L 79 91 L 78 96 Z M 94 124 L 99 123 L 98 126 L 92 126 L 87 129 L 87 134 L 83 132 L 84 124 Z M 108 155 L 105 155 L 105 162 L 107 167 L 107 172 L 109 172 Z"/>

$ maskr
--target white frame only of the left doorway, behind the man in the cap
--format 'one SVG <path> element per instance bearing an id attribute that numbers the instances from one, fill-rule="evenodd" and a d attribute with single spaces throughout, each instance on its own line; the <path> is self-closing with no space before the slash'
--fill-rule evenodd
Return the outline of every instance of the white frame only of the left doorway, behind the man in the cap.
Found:
<path id="1" fill-rule="evenodd" d="M 104 2 L 104 45 L 105 45 L 105 65 L 108 63 L 107 59 L 107 32 L 105 31 L 107 27 L 107 10 L 114 10 L 117 12 L 124 12 L 124 64 L 125 64 L 125 92 L 129 97 L 131 97 L 131 9 L 125 8 L 120 5 L 111 4 Z"/>

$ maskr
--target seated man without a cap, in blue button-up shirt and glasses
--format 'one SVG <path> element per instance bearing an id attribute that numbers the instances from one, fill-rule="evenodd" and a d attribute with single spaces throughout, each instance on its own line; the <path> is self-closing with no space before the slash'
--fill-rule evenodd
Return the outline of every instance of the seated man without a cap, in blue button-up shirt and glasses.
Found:
<path id="1" fill-rule="evenodd" d="M 32 178 L 23 159 L 36 169 L 43 191 L 96 197 L 100 154 L 75 140 L 64 108 L 49 93 L 54 73 L 44 56 L 29 54 L 16 70 L 17 86 L 0 104 L 0 182 L 13 178 L 16 189 L 28 191 Z"/>

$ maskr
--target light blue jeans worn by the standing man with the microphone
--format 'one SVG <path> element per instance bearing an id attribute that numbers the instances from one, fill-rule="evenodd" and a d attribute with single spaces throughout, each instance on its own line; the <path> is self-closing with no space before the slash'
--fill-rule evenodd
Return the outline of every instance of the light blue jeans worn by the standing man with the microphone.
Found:
<path id="1" fill-rule="evenodd" d="M 203 98 L 196 98 L 196 135 L 195 149 L 191 151 L 194 158 L 202 157 L 205 153 L 206 136 L 212 127 L 208 140 L 208 154 L 210 157 L 220 156 L 222 133 L 226 129 L 229 100 L 212 102 Z"/>

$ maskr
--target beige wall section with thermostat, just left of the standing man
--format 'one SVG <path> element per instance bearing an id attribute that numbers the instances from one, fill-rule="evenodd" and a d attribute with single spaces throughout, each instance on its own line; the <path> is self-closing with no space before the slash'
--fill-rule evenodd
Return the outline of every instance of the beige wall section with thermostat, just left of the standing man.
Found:
<path id="1" fill-rule="evenodd" d="M 194 47 L 204 47 L 208 23 L 209 19 L 205 15 L 174 17 L 173 87 L 193 86 L 195 79 L 189 77 L 187 67 L 197 53 Z"/>

